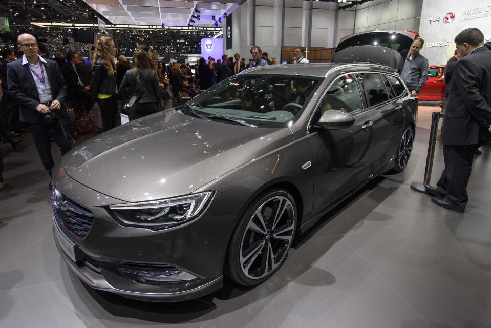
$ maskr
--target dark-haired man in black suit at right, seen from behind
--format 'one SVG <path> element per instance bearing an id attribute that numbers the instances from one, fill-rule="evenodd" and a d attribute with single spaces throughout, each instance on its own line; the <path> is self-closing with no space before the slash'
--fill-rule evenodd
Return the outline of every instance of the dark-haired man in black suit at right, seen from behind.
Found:
<path id="1" fill-rule="evenodd" d="M 484 47 L 484 35 L 477 28 L 460 32 L 455 44 L 462 59 L 455 65 L 443 118 L 445 169 L 436 187 L 425 187 L 438 206 L 463 213 L 474 152 L 491 140 L 491 50 Z"/>

